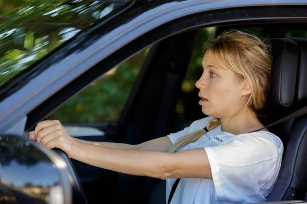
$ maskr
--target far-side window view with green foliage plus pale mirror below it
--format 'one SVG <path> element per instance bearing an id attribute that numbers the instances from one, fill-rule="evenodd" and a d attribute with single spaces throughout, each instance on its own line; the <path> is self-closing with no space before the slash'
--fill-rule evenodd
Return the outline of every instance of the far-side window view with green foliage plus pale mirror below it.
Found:
<path id="1" fill-rule="evenodd" d="M 97 81 L 52 112 L 73 137 L 114 135 L 128 96 L 150 47 L 103 74 Z"/>

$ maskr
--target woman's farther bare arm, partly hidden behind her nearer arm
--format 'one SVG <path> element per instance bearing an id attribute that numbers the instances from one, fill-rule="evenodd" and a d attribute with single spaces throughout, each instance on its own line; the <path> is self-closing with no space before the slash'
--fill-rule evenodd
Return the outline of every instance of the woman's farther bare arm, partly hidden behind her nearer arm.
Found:
<path id="1" fill-rule="evenodd" d="M 161 137 L 149 140 L 137 145 L 113 143 L 113 142 L 91 142 L 75 138 L 76 141 L 84 144 L 91 144 L 96 146 L 116 148 L 116 149 L 129 149 L 129 150 L 148 150 L 148 151 L 164 151 L 167 152 L 172 143 L 168 137 Z"/>

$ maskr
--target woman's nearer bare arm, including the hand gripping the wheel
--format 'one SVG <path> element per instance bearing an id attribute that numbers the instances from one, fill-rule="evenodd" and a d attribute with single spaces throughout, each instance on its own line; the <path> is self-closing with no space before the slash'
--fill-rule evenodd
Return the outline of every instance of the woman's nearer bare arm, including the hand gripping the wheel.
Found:
<path id="1" fill-rule="evenodd" d="M 117 172 L 160 179 L 171 177 L 212 179 L 211 168 L 204 148 L 170 154 L 168 152 L 116 149 L 85 144 L 77 142 L 71 137 L 58 120 L 39 122 L 34 133 L 31 132 L 29 137 L 32 138 L 33 135 L 37 142 L 49 149 L 60 148 L 73 159 Z M 150 143 L 147 142 L 148 144 Z"/>

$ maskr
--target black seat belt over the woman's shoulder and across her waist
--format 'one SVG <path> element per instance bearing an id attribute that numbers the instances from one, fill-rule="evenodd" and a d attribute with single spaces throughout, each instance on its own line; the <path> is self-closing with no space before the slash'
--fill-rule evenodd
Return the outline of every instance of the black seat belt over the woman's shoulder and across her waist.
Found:
<path id="1" fill-rule="evenodd" d="M 287 115 L 287 116 L 285 116 L 285 117 L 283 117 L 283 118 L 281 118 L 281 119 L 279 119 L 279 120 L 277 120 L 277 121 L 275 121 L 275 122 L 273 122 L 273 123 L 271 123 L 271 124 L 269 124 L 269 125 L 267 125 L 265 127 L 262 127 L 262 128 L 260 128 L 258 130 L 252 131 L 252 132 L 257 132 L 257 131 L 260 131 L 262 129 L 266 129 L 266 128 L 270 127 L 270 126 L 273 126 L 273 125 L 276 125 L 276 124 L 279 124 L 279 123 L 282 123 L 282 122 L 286 122 L 288 120 L 291 120 L 293 118 L 297 118 L 297 117 L 305 115 L 305 114 L 307 114 L 307 106 L 304 107 L 304 108 L 301 108 L 301 109 L 299 109 L 299 110 L 297 110 L 297 111 L 295 111 L 295 112 L 293 112 L 293 113 L 291 113 L 291 114 L 289 114 L 289 115 Z M 204 129 L 206 129 L 206 127 Z M 252 132 L 249 132 L 249 133 L 252 133 Z M 170 191 L 170 195 L 168 197 L 167 204 L 170 204 L 170 201 L 171 201 L 171 199 L 172 199 L 172 197 L 174 195 L 174 192 L 176 191 L 176 188 L 177 188 L 179 182 L 180 182 L 180 179 L 177 179 L 175 181 L 175 183 L 173 184 L 173 186 L 171 188 L 171 191 Z M 306 194 L 306 197 L 307 197 L 307 194 Z"/>

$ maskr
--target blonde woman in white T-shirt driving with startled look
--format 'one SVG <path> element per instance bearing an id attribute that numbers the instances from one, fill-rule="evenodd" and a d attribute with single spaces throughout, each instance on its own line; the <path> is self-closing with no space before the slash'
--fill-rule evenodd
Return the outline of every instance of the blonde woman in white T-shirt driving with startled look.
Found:
<path id="1" fill-rule="evenodd" d="M 205 44 L 204 70 L 195 84 L 209 117 L 138 145 L 74 139 L 58 120 L 39 122 L 28 137 L 93 166 L 166 179 L 166 199 L 176 178 L 184 178 L 171 203 L 266 201 L 283 151 L 256 115 L 265 105 L 271 63 L 260 39 L 228 31 Z M 253 132 L 258 129 L 264 130 Z"/>

